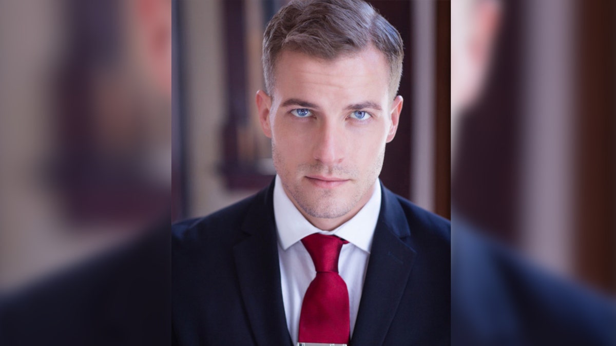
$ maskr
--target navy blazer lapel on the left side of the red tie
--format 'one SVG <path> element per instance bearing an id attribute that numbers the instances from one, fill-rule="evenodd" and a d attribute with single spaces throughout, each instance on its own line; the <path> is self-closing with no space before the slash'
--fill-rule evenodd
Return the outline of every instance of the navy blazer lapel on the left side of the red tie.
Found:
<path id="1" fill-rule="evenodd" d="M 274 183 L 262 191 L 243 223 L 245 238 L 233 247 L 241 296 L 258 345 L 290 345 L 280 286 L 274 222 Z"/>

